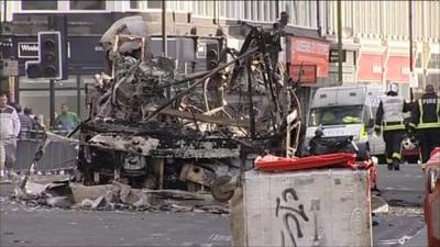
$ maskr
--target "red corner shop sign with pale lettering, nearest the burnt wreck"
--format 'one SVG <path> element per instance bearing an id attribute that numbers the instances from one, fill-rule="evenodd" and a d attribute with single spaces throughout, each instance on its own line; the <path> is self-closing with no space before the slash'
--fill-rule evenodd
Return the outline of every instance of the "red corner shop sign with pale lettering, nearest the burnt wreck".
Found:
<path id="1" fill-rule="evenodd" d="M 290 37 L 290 64 L 316 66 L 317 77 L 329 76 L 328 42 L 307 37 Z"/>

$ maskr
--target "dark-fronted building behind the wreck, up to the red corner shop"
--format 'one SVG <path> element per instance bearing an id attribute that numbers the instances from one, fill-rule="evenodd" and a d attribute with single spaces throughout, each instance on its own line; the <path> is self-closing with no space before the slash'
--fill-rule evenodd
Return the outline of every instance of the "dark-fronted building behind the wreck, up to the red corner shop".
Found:
<path id="1" fill-rule="evenodd" d="M 117 20 L 128 15 L 142 15 L 148 22 L 153 54 L 161 55 L 162 4 L 163 1 L 10 1 L 3 0 L 1 56 L 19 61 L 18 75 L 8 78 L 7 88 L 13 100 L 34 109 L 35 114 L 50 115 L 50 82 L 30 79 L 25 76 L 24 63 L 37 58 L 37 32 L 47 30 L 47 15 L 66 14 L 68 20 L 68 80 L 55 85 L 55 105 L 67 103 L 82 117 L 87 115 L 85 105 L 86 85 L 94 82 L 94 75 L 103 70 L 103 50 L 99 38 Z M 279 12 L 288 13 L 286 29 L 285 60 L 307 64 L 290 53 L 292 44 L 321 47 L 323 49 L 299 50 L 315 56 L 321 64 L 316 66 L 319 81 L 326 81 L 328 71 L 326 46 L 329 42 L 318 33 L 317 1 L 166 1 L 167 35 L 198 35 L 216 37 L 221 35 L 227 45 L 240 48 L 246 33 L 246 24 L 271 27 Z M 219 32 L 220 31 L 220 32 Z M 298 37 L 296 40 L 296 37 Z M 168 38 L 168 56 L 178 56 L 178 42 Z M 287 50 L 288 49 L 288 50 Z M 296 54 L 299 54 L 297 50 Z M 304 55 L 304 54 L 302 54 Z M 304 57 L 304 56 L 302 56 Z M 196 63 L 202 64 L 202 60 Z M 316 64 L 316 63 L 314 63 Z M 185 68 L 187 66 L 184 66 Z M 187 72 L 185 70 L 185 72 Z M 315 75 L 316 76 L 316 75 Z M 317 77 L 311 78 L 316 82 Z"/>

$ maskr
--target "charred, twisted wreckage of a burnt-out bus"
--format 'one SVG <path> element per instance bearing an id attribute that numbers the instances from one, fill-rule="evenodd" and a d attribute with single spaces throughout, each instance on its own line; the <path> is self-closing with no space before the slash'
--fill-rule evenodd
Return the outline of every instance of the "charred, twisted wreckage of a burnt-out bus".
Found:
<path id="1" fill-rule="evenodd" d="M 300 109 L 277 63 L 282 29 L 251 27 L 241 50 L 223 48 L 216 68 L 178 75 L 173 60 L 152 58 L 142 22 L 122 19 L 102 36 L 109 69 L 87 96 L 77 180 L 208 189 L 227 201 L 257 155 L 295 154 Z"/>

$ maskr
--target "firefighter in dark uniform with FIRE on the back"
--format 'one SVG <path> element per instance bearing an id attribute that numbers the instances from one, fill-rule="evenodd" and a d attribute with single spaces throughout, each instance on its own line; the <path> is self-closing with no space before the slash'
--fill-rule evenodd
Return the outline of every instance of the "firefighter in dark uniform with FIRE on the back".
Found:
<path id="1" fill-rule="evenodd" d="M 427 85 L 425 93 L 413 109 L 410 130 L 417 130 L 421 162 L 427 162 L 435 147 L 440 147 L 440 98 L 432 85 Z"/>

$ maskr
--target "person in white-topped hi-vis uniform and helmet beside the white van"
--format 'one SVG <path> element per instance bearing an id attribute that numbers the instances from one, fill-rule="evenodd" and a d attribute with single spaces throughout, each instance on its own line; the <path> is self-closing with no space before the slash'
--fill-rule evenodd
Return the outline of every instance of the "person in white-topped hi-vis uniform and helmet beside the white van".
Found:
<path id="1" fill-rule="evenodd" d="M 411 108 L 398 96 L 398 86 L 391 83 L 386 97 L 381 100 L 374 125 L 374 132 L 378 135 L 382 127 L 385 141 L 385 158 L 388 170 L 400 170 L 400 144 L 405 135 L 404 112 Z"/>

